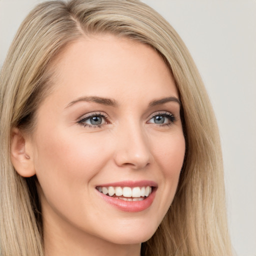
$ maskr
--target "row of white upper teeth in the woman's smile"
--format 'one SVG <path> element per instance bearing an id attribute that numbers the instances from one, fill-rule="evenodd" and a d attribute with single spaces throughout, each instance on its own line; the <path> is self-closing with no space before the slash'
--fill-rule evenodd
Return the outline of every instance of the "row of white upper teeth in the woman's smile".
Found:
<path id="1" fill-rule="evenodd" d="M 103 194 L 108 194 L 110 196 L 116 195 L 116 196 L 125 196 L 125 197 L 140 197 L 140 196 L 148 196 L 152 188 L 151 186 L 136 186 L 136 187 L 120 187 L 120 186 L 97 186 L 96 187 L 99 192 Z"/>

